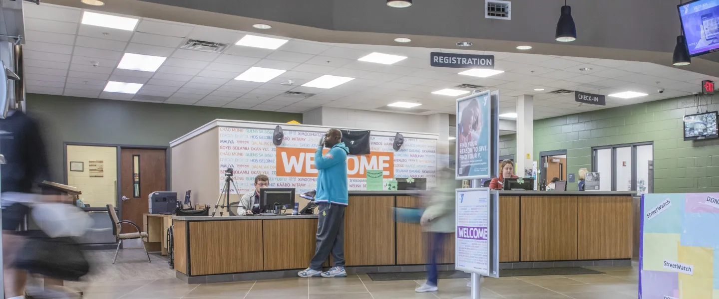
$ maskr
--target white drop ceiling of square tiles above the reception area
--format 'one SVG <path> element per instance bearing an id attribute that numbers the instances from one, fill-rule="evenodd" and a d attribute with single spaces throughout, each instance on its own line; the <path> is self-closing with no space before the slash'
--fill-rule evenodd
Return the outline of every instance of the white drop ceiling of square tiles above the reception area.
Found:
<path id="1" fill-rule="evenodd" d="M 235 45 L 248 32 L 147 18 L 137 18 L 137 27 L 125 31 L 81 24 L 83 11 L 52 4 L 24 6 L 27 92 L 291 113 L 321 106 L 386 111 L 390 103 L 408 102 L 421 103 L 417 109 L 422 112 L 415 113 L 429 115 L 454 113 L 456 100 L 431 92 L 471 84 L 500 90 L 500 113 L 514 112 L 518 95 L 533 95 L 534 118 L 541 119 L 691 95 L 699 90 L 701 80 L 719 81 L 649 62 L 530 54 L 531 50 L 462 51 L 333 44 L 287 37 L 277 37 L 289 40 L 278 49 L 260 49 Z M 186 39 L 230 46 L 221 54 L 180 49 Z M 505 72 L 487 78 L 458 75 L 467 69 L 431 67 L 429 52 L 433 51 L 493 54 L 495 69 Z M 116 68 L 126 52 L 168 59 L 155 72 Z M 372 52 L 408 58 L 393 65 L 358 61 Z M 234 80 L 250 67 L 287 72 L 265 83 Z M 587 68 L 590 70 L 580 70 Z M 322 75 L 355 79 L 330 89 L 300 86 Z M 290 80 L 292 85 L 288 84 Z M 104 92 L 109 81 L 143 86 L 137 94 Z M 544 90 L 535 91 L 538 88 Z M 659 93 L 660 88 L 665 91 Z M 549 93 L 559 89 L 648 95 L 628 100 L 608 97 L 606 106 L 578 105 L 573 95 Z M 285 95 L 288 91 L 313 95 Z"/>

